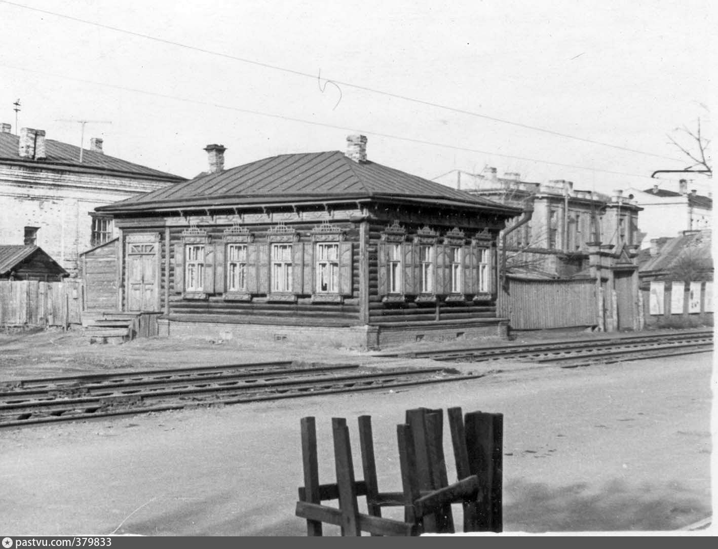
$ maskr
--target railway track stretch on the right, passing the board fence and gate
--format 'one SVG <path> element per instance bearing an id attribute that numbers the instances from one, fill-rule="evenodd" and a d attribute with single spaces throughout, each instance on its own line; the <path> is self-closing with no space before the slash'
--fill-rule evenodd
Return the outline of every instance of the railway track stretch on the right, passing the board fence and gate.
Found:
<path id="1" fill-rule="evenodd" d="M 411 353 L 393 353 L 381 357 L 429 358 L 441 362 L 485 362 L 490 360 L 519 360 L 525 362 L 557 363 L 563 367 L 578 367 L 597 362 L 689 355 L 713 350 L 713 332 L 691 331 L 677 334 L 640 335 L 630 337 L 570 339 L 548 343 L 501 345 L 444 349 Z"/>

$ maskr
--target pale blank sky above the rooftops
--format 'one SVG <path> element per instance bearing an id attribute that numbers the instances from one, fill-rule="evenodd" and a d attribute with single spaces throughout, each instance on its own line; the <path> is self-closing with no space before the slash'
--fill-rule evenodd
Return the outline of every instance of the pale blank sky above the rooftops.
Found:
<path id="1" fill-rule="evenodd" d="M 0 122 L 194 177 L 344 150 L 434 179 L 677 190 L 711 134 L 709 1 L 0 0 Z M 627 150 L 630 149 L 630 150 Z M 688 175 L 690 188 L 710 179 Z"/>

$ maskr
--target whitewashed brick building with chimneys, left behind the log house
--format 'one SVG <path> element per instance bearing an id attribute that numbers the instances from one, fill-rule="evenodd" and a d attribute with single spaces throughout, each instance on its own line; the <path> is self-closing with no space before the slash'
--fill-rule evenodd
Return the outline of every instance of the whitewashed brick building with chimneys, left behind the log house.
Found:
<path id="1" fill-rule="evenodd" d="M 45 131 L 0 124 L 0 244 L 37 245 L 72 276 L 81 252 L 113 238 L 95 207 L 167 187 L 185 178 L 45 138 Z"/>

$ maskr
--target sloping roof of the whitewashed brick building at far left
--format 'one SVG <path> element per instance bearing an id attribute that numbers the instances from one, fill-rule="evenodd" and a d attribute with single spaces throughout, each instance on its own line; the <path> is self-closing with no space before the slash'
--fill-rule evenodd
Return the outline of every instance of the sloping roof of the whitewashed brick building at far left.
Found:
<path id="1" fill-rule="evenodd" d="M 26 166 L 63 169 L 70 172 L 113 172 L 116 174 L 142 177 L 146 179 L 164 179 L 185 181 L 185 177 L 160 172 L 158 169 L 141 166 L 126 160 L 115 158 L 98 151 L 83 149 L 83 161 L 80 164 L 80 147 L 45 139 L 45 159 L 27 159 L 19 155 L 19 136 L 13 133 L 0 133 L 0 163 L 12 162 Z"/>

